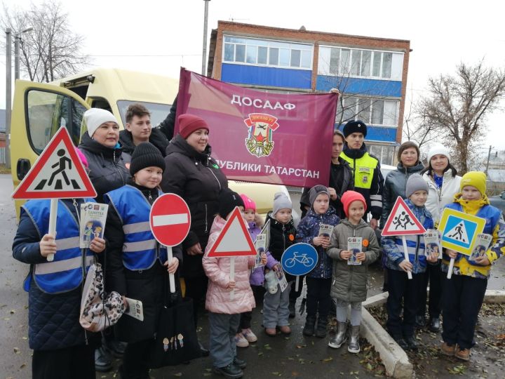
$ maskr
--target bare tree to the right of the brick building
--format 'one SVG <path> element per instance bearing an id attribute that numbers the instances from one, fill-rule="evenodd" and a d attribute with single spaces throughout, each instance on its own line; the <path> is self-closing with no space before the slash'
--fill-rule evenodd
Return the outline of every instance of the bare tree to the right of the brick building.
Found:
<path id="1" fill-rule="evenodd" d="M 466 173 L 485 137 L 486 116 L 505 95 L 505 72 L 485 67 L 483 60 L 474 66 L 460 63 L 454 75 L 430 78 L 428 86 L 418 117 L 452 149 L 454 163 Z"/>

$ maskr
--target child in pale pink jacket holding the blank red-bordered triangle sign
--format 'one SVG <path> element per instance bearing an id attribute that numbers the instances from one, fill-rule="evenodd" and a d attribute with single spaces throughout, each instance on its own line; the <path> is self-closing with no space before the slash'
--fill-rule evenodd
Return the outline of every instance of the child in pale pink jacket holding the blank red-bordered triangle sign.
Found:
<path id="1" fill-rule="evenodd" d="M 225 378 L 241 378 L 246 362 L 236 356 L 235 335 L 241 313 L 250 312 L 255 307 L 253 291 L 249 284 L 249 269 L 254 267 L 255 256 L 235 257 L 234 280 L 230 280 L 230 260 L 232 258 L 209 257 L 208 252 L 222 231 L 229 215 L 238 206 L 243 212 L 242 198 L 231 189 L 223 189 L 219 196 L 219 213 L 210 228 L 209 242 L 203 255 L 203 270 L 209 279 L 206 309 L 209 311 L 210 358 L 215 373 Z M 262 263 L 267 255 L 262 255 Z M 234 298 L 231 298 L 231 290 Z"/>

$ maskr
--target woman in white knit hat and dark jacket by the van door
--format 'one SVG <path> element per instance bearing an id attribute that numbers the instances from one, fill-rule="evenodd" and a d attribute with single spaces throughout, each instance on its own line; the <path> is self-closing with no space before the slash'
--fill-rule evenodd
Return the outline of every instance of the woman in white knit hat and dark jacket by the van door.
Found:
<path id="1" fill-rule="evenodd" d="M 79 150 L 88 160 L 88 175 L 97 192 L 96 201 L 103 203 L 104 194 L 126 185 L 130 180 L 130 172 L 118 143 L 119 125 L 114 114 L 105 109 L 91 108 L 84 112 L 84 121 L 88 132 L 81 136 Z M 112 328 L 104 332 L 104 337 L 102 345 L 105 346 L 95 351 L 97 371 L 109 371 L 112 368 L 109 350 L 121 355 L 125 349 L 125 344 L 114 340 Z"/>

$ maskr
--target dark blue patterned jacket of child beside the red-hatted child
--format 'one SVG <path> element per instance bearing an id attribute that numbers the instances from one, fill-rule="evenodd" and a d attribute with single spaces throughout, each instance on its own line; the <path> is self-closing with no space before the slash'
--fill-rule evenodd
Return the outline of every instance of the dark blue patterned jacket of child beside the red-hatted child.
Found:
<path id="1" fill-rule="evenodd" d="M 314 246 L 313 239 L 319 235 L 319 227 L 323 225 L 337 225 L 340 222 L 335 208 L 330 206 L 326 213 L 319 215 L 310 209 L 304 218 L 299 222 L 297 227 L 297 242 L 304 242 L 305 244 L 311 244 Z M 318 263 L 314 269 L 312 269 L 308 277 L 328 279 L 332 277 L 333 270 L 333 260 L 324 251 L 322 246 L 314 246 L 318 252 Z"/>

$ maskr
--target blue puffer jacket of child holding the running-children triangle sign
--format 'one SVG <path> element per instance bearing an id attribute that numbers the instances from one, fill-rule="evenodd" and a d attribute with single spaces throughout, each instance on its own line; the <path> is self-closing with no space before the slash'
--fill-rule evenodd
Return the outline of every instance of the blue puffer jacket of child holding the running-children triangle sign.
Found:
<path id="1" fill-rule="evenodd" d="M 412 210 L 417 220 L 422 223 L 424 228 L 433 229 L 433 219 L 431 213 L 425 206 L 419 207 L 412 204 L 409 199 L 405 204 Z M 426 271 L 426 255 L 424 255 L 424 237 L 422 234 L 405 236 L 407 239 L 407 248 L 409 261 L 412 263 L 412 274 L 420 274 Z M 403 241 L 401 237 L 382 237 L 382 248 L 386 255 L 385 265 L 392 270 L 403 271 L 398 265 L 405 260 L 403 253 Z"/>

